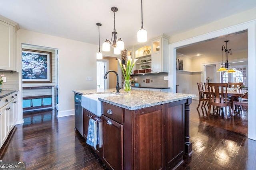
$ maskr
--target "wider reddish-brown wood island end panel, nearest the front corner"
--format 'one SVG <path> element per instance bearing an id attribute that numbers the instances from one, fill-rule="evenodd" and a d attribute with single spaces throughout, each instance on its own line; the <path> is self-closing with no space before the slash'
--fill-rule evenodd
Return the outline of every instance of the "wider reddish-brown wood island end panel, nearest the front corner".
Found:
<path id="1" fill-rule="evenodd" d="M 135 111 L 134 169 L 164 169 L 163 106 Z"/>

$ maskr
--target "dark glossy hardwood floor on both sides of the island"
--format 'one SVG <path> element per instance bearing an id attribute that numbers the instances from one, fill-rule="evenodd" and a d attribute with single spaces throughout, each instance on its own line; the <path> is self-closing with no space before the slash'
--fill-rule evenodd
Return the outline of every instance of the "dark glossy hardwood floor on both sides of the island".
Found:
<path id="1" fill-rule="evenodd" d="M 225 123 L 214 123 L 222 116 L 202 120 L 202 114 L 196 111 L 197 104 L 193 100 L 190 107 L 194 153 L 184 156 L 184 164 L 178 170 L 255 170 L 256 141 L 232 132 L 232 118 Z M 55 111 L 38 111 L 23 117 L 24 124 L 16 125 L 0 149 L 0 160 L 26 161 L 27 170 L 107 169 L 80 133 L 74 131 L 74 116 L 57 118 Z M 242 126 L 238 124 L 234 123 L 236 127 Z"/>

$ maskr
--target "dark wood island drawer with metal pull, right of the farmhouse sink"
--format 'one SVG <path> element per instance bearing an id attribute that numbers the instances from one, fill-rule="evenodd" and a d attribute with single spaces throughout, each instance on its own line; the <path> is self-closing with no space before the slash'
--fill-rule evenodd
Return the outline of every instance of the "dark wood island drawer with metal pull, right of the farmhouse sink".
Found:
<path id="1" fill-rule="evenodd" d="M 123 124 L 124 112 L 121 107 L 117 107 L 112 104 L 102 102 L 102 111 L 103 111 L 102 114 L 105 115 L 106 117 L 109 117 L 110 119 Z"/>

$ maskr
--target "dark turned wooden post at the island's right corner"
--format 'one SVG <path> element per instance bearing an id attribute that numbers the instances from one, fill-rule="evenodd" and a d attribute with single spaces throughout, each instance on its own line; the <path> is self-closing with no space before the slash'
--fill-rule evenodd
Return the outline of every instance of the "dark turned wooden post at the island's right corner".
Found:
<path id="1" fill-rule="evenodd" d="M 192 143 L 189 141 L 189 111 L 190 111 L 190 104 L 192 103 L 192 98 L 188 98 L 187 102 L 185 103 L 185 139 L 184 139 L 184 145 L 185 145 L 185 154 L 188 156 L 191 156 L 193 154 L 192 151 Z"/>

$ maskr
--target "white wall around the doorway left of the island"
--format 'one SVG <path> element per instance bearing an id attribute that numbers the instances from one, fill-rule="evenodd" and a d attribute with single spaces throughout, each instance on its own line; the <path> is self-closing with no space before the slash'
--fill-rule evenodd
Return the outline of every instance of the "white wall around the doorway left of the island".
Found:
<path id="1" fill-rule="evenodd" d="M 22 43 L 50 47 L 59 50 L 59 111 L 58 117 L 74 114 L 74 92 L 72 90 L 96 88 L 96 52 L 97 45 L 60 38 L 52 35 L 36 33 L 20 29 L 17 32 L 17 63 L 21 72 Z M 92 76 L 92 81 L 86 81 L 86 76 Z M 19 74 L 22 91 L 22 77 Z M 22 100 L 20 98 L 20 113 L 18 121 L 22 121 Z"/>

